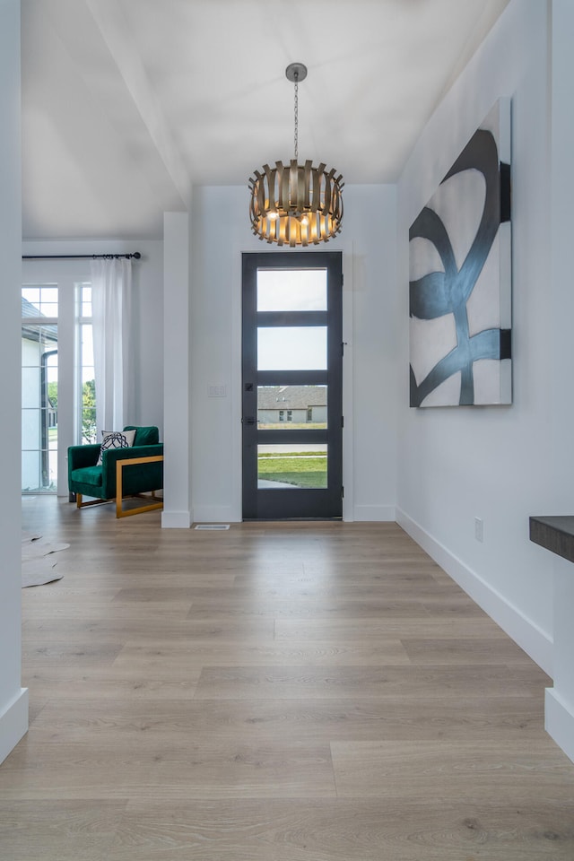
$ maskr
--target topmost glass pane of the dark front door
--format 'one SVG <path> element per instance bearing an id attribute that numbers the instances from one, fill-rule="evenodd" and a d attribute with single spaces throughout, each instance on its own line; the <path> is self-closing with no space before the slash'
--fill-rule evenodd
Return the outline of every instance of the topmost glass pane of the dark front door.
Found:
<path id="1" fill-rule="evenodd" d="M 326 311 L 326 269 L 257 269 L 258 311 Z"/>

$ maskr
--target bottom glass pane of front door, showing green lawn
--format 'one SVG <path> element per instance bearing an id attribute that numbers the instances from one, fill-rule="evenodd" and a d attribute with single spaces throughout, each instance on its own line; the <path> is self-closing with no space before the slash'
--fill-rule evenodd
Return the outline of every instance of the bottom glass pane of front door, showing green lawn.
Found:
<path id="1" fill-rule="evenodd" d="M 326 444 L 257 446 L 257 488 L 326 488 L 326 460 Z"/>

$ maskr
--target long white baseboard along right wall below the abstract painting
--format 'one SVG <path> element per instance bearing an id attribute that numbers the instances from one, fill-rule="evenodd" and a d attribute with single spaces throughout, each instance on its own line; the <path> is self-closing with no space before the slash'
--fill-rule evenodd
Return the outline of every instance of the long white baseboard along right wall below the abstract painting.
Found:
<path id="1" fill-rule="evenodd" d="M 524 649 L 526 655 L 531 657 L 544 673 L 552 676 L 552 639 L 544 631 L 398 508 L 396 522 L 520 648 Z"/>

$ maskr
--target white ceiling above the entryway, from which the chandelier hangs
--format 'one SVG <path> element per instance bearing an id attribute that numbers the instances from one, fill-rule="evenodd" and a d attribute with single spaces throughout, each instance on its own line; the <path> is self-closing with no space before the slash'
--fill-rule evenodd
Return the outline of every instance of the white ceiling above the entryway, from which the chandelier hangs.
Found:
<path id="1" fill-rule="evenodd" d="M 292 157 L 293 61 L 300 158 L 394 182 L 508 3 L 22 0 L 24 238 L 160 238 L 192 184 L 247 189 Z"/>

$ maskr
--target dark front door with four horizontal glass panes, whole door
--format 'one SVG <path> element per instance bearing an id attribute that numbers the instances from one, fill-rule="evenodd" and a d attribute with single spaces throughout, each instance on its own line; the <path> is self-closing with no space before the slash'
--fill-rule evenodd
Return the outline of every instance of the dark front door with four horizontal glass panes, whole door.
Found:
<path id="1" fill-rule="evenodd" d="M 343 514 L 342 255 L 243 255 L 243 518 Z"/>

